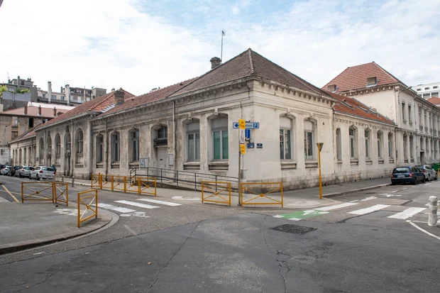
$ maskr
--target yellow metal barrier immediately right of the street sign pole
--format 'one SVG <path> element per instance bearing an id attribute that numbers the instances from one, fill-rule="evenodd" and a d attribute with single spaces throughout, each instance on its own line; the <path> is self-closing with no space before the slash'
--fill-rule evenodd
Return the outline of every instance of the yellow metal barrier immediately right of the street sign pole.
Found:
<path id="1" fill-rule="evenodd" d="M 273 185 L 275 187 L 270 187 L 268 185 Z M 246 182 L 246 183 L 241 183 L 240 188 L 241 188 L 241 192 L 240 192 L 241 206 L 244 206 L 246 204 L 281 204 L 281 207 L 284 207 L 282 203 L 282 182 L 262 182 L 262 183 Z M 268 190 L 266 191 L 266 189 Z M 248 192 L 250 194 L 256 194 L 257 196 L 251 199 L 243 200 L 244 192 Z M 280 192 L 281 199 L 278 200 L 278 199 L 274 199 L 273 197 L 268 197 L 268 194 L 271 194 L 273 192 Z M 257 201 L 257 199 L 269 199 L 269 201 Z"/>

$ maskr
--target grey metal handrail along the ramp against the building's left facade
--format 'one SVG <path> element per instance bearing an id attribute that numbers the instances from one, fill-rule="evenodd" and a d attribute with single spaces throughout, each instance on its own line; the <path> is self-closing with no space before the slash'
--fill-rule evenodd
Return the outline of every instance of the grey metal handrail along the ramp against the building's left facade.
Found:
<path id="1" fill-rule="evenodd" d="M 231 184 L 236 184 L 232 189 L 238 191 L 238 178 L 224 175 L 163 169 L 159 167 L 146 167 L 131 169 L 130 177 L 153 177 L 157 179 L 158 183 L 163 183 L 164 181 L 173 182 L 177 187 L 179 184 L 187 184 L 194 186 L 194 190 L 197 190 L 197 187 L 202 187 L 202 181 L 231 182 Z"/>

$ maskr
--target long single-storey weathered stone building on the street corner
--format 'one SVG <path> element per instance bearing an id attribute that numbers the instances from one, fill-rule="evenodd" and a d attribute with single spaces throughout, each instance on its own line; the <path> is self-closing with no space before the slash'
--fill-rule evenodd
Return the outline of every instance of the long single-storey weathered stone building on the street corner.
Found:
<path id="1" fill-rule="evenodd" d="M 211 59 L 200 77 L 136 97 L 119 89 L 45 123 L 35 129 L 38 163 L 55 153 L 60 174 L 82 178 L 139 167 L 237 177 L 239 118 L 260 126 L 243 156 L 248 181 L 316 186 L 317 143 L 324 184 L 387 176 L 396 164 L 386 139 L 393 121 L 251 49 L 224 64 Z"/>

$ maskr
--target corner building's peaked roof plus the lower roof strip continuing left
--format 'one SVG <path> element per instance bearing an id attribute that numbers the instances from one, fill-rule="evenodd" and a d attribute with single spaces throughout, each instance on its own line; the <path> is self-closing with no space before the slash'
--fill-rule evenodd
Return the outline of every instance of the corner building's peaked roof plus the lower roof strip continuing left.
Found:
<path id="1" fill-rule="evenodd" d="M 290 87 L 296 87 L 297 89 L 302 89 L 304 91 L 328 96 L 326 92 L 318 87 L 309 84 L 304 81 L 304 79 L 301 79 L 295 74 L 276 65 L 265 57 L 259 55 L 257 52 L 248 49 L 200 77 L 187 79 L 185 82 L 173 84 L 169 87 L 158 89 L 155 92 L 136 96 L 133 100 L 125 101 L 123 104 L 106 111 L 103 116 L 135 108 L 137 106 L 143 106 L 160 99 L 187 94 L 217 84 L 233 82 L 236 79 L 251 76 L 273 80 L 274 82 L 279 82 L 280 84 L 285 84 Z"/>

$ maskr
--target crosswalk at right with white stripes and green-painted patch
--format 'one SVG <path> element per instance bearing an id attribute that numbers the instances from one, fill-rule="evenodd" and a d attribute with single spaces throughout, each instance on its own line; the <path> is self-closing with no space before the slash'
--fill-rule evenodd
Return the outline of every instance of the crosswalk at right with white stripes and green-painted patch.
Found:
<path id="1" fill-rule="evenodd" d="M 359 209 L 355 209 L 356 206 L 358 206 Z M 390 206 L 390 204 L 368 204 L 365 201 L 345 202 L 342 204 L 334 204 L 331 206 L 322 206 L 313 210 L 309 209 L 305 211 L 294 211 L 290 214 L 279 214 L 275 215 L 274 217 L 291 221 L 301 221 L 315 216 L 329 216 L 333 212 L 338 214 L 345 214 L 346 217 L 349 218 L 351 216 L 363 216 L 367 214 L 373 214 L 376 211 L 386 211 L 387 208 Z M 395 208 L 395 206 L 393 207 Z M 386 216 L 387 219 L 407 220 L 426 210 L 426 208 L 422 207 L 407 207 L 403 211 L 396 212 L 396 209 L 394 208 L 388 209 L 388 211 L 392 212 L 393 214 L 391 214 L 390 216 Z"/>

